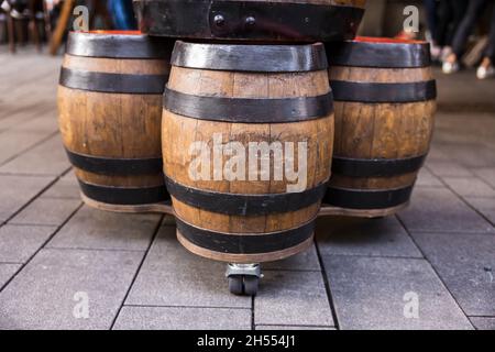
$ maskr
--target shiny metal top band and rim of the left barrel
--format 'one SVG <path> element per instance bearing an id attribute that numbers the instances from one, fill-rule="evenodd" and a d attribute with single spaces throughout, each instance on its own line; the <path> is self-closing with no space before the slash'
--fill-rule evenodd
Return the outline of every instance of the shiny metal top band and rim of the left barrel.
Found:
<path id="1" fill-rule="evenodd" d="M 66 53 L 106 58 L 168 58 L 173 43 L 138 31 L 70 32 Z"/>

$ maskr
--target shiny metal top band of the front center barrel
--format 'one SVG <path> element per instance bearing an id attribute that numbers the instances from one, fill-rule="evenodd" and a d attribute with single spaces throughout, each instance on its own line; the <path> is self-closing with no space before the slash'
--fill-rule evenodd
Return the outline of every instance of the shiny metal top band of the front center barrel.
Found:
<path id="1" fill-rule="evenodd" d="M 328 68 L 324 46 L 204 44 L 178 41 L 172 65 L 211 70 L 296 73 Z"/>

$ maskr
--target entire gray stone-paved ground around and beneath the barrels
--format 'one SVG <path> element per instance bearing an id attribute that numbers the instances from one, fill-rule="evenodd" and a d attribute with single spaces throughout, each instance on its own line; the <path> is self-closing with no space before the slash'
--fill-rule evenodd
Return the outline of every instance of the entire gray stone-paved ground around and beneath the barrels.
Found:
<path id="1" fill-rule="evenodd" d="M 59 63 L 0 54 L 0 329 L 495 329 L 495 81 L 440 77 L 411 207 L 321 219 L 251 299 L 170 219 L 82 206 L 57 133 Z"/>

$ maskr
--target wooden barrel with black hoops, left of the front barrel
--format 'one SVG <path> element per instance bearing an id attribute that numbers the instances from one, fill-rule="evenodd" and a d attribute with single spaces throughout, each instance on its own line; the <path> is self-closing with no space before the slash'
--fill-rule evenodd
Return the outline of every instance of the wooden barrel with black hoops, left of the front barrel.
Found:
<path id="1" fill-rule="evenodd" d="M 139 32 L 69 34 L 59 128 L 89 205 L 134 211 L 169 199 L 161 123 L 172 48 Z"/>

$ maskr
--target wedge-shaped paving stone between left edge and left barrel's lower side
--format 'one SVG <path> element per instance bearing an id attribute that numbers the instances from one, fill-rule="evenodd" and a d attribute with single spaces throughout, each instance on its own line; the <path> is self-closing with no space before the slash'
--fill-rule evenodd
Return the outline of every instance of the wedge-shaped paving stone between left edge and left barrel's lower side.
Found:
<path id="1" fill-rule="evenodd" d="M 58 176 L 69 167 L 61 138 L 56 135 L 1 166 L 0 174 Z"/>

